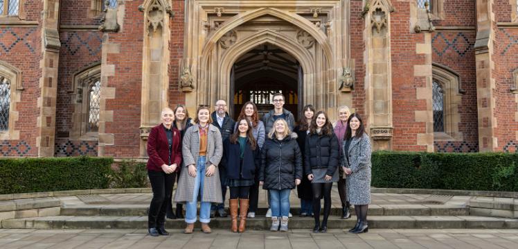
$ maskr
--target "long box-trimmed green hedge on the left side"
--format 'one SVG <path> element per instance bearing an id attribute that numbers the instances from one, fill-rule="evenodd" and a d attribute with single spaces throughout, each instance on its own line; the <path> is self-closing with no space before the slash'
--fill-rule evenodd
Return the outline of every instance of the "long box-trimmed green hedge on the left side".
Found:
<path id="1" fill-rule="evenodd" d="M 0 159 L 0 194 L 107 189 L 113 162 L 107 157 Z"/>

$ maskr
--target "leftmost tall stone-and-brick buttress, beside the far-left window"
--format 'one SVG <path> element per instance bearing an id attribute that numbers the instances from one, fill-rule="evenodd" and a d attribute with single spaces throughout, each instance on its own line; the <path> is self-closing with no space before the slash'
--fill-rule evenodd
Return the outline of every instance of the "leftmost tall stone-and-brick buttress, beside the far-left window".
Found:
<path id="1" fill-rule="evenodd" d="M 54 155 L 55 117 L 57 96 L 57 66 L 60 60 L 59 25 L 60 1 L 42 0 L 42 57 L 39 68 L 40 95 L 37 100 L 39 115 L 37 117 L 36 146 L 39 157 Z"/>

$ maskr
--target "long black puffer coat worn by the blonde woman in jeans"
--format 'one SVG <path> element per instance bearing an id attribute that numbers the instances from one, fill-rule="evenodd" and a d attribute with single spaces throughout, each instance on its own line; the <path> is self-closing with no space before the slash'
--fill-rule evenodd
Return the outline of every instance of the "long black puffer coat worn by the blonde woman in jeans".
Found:
<path id="1" fill-rule="evenodd" d="M 259 170 L 263 189 L 294 189 L 295 179 L 302 179 L 302 154 L 296 137 L 291 132 L 283 140 L 266 139 Z"/>

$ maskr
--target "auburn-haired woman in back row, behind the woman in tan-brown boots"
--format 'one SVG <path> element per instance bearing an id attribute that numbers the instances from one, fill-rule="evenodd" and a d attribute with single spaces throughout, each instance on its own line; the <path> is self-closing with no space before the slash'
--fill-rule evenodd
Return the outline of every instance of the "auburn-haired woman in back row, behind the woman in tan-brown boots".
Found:
<path id="1" fill-rule="evenodd" d="M 256 139 L 256 144 L 258 149 L 262 148 L 262 145 L 265 144 L 265 124 L 259 120 L 259 113 L 257 110 L 257 106 L 255 103 L 248 101 L 244 103 L 241 108 L 241 112 L 239 114 L 238 120 L 247 119 L 252 128 L 253 138 Z M 235 123 L 235 128 L 238 128 L 239 123 Z M 250 187 L 249 194 L 249 213 L 247 214 L 248 218 L 255 218 L 258 206 L 259 199 L 259 180 L 257 179 L 258 174 L 256 173 L 256 178 L 254 179 L 253 185 Z"/>

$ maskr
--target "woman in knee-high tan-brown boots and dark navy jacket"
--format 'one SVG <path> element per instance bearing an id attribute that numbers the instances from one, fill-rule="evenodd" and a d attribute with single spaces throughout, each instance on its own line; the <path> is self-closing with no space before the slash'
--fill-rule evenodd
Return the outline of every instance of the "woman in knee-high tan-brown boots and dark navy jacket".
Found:
<path id="1" fill-rule="evenodd" d="M 238 204 L 240 210 L 239 232 L 244 232 L 249 206 L 250 187 L 255 183 L 258 170 L 258 147 L 252 126 L 246 118 L 238 119 L 238 127 L 223 143 L 223 160 L 226 162 L 227 185 L 230 187 L 230 215 L 232 232 L 238 232 Z"/>

